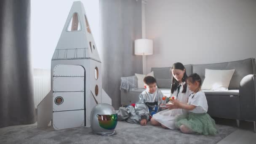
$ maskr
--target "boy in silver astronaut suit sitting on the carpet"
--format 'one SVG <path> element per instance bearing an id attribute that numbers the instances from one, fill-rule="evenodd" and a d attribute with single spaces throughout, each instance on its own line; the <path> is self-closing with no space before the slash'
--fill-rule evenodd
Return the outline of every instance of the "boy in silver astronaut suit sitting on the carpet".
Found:
<path id="1" fill-rule="evenodd" d="M 139 95 L 139 101 L 136 102 L 135 107 L 132 105 L 126 108 L 120 107 L 117 111 L 118 120 L 146 125 L 152 115 L 162 110 L 160 104 L 165 104 L 162 100 L 164 95 L 157 89 L 155 78 L 147 76 L 143 81 L 146 90 Z"/>

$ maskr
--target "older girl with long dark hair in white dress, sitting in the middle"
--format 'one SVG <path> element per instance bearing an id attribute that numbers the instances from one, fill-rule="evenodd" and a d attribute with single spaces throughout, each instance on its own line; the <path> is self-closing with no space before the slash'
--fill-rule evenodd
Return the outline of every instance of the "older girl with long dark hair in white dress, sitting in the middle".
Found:
<path id="1" fill-rule="evenodd" d="M 187 102 L 189 94 L 192 93 L 187 87 L 187 73 L 183 64 L 177 62 L 171 68 L 172 84 L 171 96 L 176 96 L 176 99 L 182 102 Z M 175 129 L 175 117 L 178 114 L 187 113 L 184 109 L 176 108 L 173 104 L 166 104 L 166 108 L 161 112 L 153 115 L 151 121 L 152 125 L 161 125 L 163 128 Z"/>

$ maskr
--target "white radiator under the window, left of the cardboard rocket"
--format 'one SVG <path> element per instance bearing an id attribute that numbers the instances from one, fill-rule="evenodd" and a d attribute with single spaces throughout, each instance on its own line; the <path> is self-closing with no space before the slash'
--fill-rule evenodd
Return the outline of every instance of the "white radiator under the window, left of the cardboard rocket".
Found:
<path id="1" fill-rule="evenodd" d="M 35 108 L 37 108 L 37 105 L 51 91 L 51 70 L 34 69 L 33 78 Z"/>

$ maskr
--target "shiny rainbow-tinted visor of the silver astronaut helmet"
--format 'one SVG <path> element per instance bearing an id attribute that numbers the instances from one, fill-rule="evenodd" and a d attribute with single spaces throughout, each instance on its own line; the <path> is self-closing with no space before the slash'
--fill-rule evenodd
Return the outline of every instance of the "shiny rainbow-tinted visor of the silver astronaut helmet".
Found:
<path id="1" fill-rule="evenodd" d="M 108 130 L 115 129 L 117 125 L 117 114 L 114 115 L 97 115 L 99 120 L 99 125 L 101 128 L 105 128 Z"/>

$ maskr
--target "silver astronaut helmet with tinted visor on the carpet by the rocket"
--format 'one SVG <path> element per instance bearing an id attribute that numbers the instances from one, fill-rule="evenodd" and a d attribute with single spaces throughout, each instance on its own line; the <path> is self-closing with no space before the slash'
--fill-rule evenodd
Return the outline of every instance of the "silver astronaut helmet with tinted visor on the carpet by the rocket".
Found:
<path id="1" fill-rule="evenodd" d="M 115 134 L 117 113 L 110 104 L 97 104 L 91 111 L 91 129 L 103 136 Z"/>

